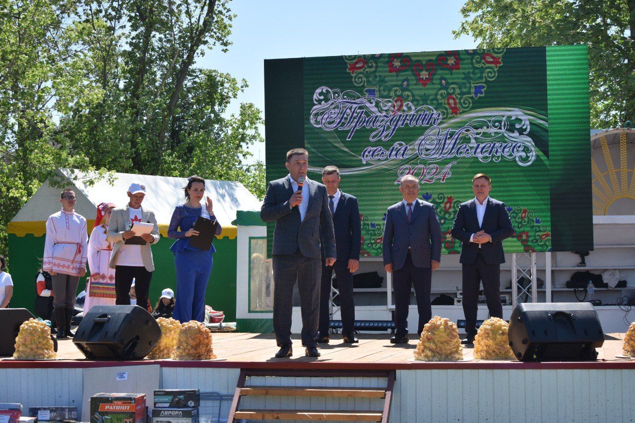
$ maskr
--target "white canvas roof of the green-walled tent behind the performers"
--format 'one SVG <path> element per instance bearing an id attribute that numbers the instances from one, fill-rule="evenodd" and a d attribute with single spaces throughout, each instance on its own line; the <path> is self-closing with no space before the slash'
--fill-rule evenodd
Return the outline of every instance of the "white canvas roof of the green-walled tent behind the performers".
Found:
<path id="1" fill-rule="evenodd" d="M 68 179 L 65 186 L 75 190 L 76 211 L 89 221 L 95 219 L 98 204 L 113 202 L 117 207 L 123 207 L 128 202 L 126 192 L 130 183 L 142 183 L 146 189 L 143 207 L 154 211 L 159 231 L 164 236 L 174 208 L 184 201 L 183 187 L 187 185 L 187 178 L 115 173 L 112 185 L 104 178 L 89 186 L 84 181 L 91 174 L 70 169 L 60 169 L 59 174 Z M 236 226 L 232 226 L 232 221 L 236 219 L 236 210 L 260 209 L 261 202 L 258 198 L 236 181 L 206 180 L 205 191 L 213 201 L 214 214 L 224 228 L 223 237 L 236 237 Z M 60 192 L 60 188 L 53 187 L 46 181 L 11 220 L 10 232 L 16 235 L 43 235 L 46 219 L 60 208 Z"/>

